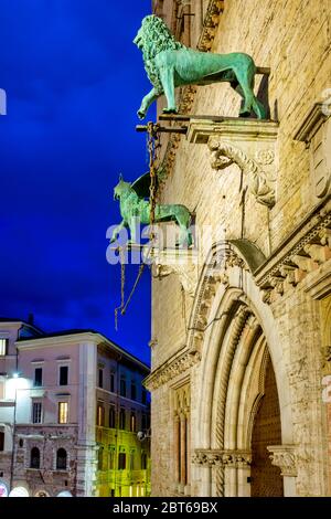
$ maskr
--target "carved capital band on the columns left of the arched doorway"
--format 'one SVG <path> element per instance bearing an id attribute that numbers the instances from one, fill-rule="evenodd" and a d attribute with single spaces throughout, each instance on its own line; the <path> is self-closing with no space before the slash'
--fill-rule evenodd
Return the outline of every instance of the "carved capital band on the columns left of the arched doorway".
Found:
<path id="1" fill-rule="evenodd" d="M 252 464 L 250 451 L 220 451 L 195 448 L 192 463 L 203 467 L 243 468 Z"/>

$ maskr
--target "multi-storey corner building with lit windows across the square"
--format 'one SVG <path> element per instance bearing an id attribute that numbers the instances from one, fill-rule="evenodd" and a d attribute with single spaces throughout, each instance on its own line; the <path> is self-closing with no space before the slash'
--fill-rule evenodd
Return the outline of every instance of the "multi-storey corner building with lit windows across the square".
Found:
<path id="1" fill-rule="evenodd" d="M 95 331 L 0 321 L 0 480 L 30 496 L 148 494 L 148 368 Z"/>

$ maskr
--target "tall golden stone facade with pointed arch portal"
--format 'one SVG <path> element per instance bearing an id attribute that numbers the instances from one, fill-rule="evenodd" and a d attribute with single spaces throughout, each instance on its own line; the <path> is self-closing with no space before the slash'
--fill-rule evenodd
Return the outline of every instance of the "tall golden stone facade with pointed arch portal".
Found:
<path id="1" fill-rule="evenodd" d="M 281 442 L 265 463 L 285 496 L 330 496 L 331 3 L 189 3 L 154 8 L 192 47 L 270 67 L 256 89 L 268 91 L 273 120 L 215 120 L 236 117 L 236 94 L 188 87 L 178 93 L 194 115 L 186 136 L 161 138 L 160 202 L 186 205 L 213 239 L 200 240 L 190 273 L 163 254 L 167 275 L 159 265 L 152 283 L 152 495 L 252 495 L 270 358 Z"/>

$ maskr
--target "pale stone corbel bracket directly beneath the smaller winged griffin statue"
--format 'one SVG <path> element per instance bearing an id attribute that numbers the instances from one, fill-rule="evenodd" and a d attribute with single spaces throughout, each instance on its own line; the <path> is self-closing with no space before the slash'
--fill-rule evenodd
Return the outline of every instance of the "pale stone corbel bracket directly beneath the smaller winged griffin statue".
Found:
<path id="1" fill-rule="evenodd" d="M 175 274 L 190 297 L 194 297 L 197 285 L 197 257 L 192 250 L 152 251 L 150 255 L 152 275 L 159 279 Z"/>

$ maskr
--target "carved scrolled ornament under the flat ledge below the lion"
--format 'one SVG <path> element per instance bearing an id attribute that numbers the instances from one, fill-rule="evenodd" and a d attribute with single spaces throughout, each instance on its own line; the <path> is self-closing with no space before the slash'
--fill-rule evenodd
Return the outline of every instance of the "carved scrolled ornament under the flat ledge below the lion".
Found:
<path id="1" fill-rule="evenodd" d="M 275 205 L 275 178 L 268 171 L 268 168 L 275 162 L 274 150 L 259 150 L 253 159 L 241 148 L 217 137 L 210 139 L 209 148 L 212 151 L 211 163 L 213 169 L 218 171 L 236 163 L 243 173 L 250 178 L 250 191 L 256 200 L 268 208 Z"/>

